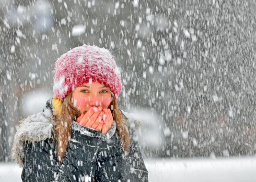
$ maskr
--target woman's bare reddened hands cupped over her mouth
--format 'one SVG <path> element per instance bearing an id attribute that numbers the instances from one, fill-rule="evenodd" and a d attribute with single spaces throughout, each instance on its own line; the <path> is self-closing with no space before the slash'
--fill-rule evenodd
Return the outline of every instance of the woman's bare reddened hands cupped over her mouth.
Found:
<path id="1" fill-rule="evenodd" d="M 81 114 L 76 121 L 85 127 L 101 130 L 105 135 L 113 125 L 113 116 L 110 109 L 102 111 L 102 107 L 92 107 L 85 114 Z"/>

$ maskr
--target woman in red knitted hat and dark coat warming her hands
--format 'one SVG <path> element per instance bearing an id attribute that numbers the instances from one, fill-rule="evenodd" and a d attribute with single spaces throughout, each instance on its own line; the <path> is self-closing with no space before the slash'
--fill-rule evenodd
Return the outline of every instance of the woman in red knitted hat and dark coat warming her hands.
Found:
<path id="1" fill-rule="evenodd" d="M 22 181 L 148 181 L 138 123 L 118 108 L 121 89 L 107 49 L 83 45 L 62 55 L 54 97 L 15 135 Z"/>

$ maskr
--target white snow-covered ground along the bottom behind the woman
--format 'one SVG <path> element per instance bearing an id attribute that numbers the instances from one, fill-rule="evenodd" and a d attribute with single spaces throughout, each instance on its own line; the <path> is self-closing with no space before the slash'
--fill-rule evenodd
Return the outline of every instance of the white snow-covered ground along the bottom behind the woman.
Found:
<path id="1" fill-rule="evenodd" d="M 149 181 L 256 181 L 256 157 L 224 159 L 145 159 Z M 0 163 L 1 182 L 20 182 L 21 168 Z"/>

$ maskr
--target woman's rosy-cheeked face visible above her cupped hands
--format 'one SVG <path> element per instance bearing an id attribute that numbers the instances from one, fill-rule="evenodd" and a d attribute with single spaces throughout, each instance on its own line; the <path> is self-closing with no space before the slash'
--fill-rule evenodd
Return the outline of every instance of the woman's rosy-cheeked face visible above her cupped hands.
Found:
<path id="1" fill-rule="evenodd" d="M 76 87 L 72 94 L 72 102 L 82 114 L 94 106 L 101 106 L 103 109 L 107 109 L 110 105 L 111 97 L 109 87 L 98 82 L 92 82 Z"/>

